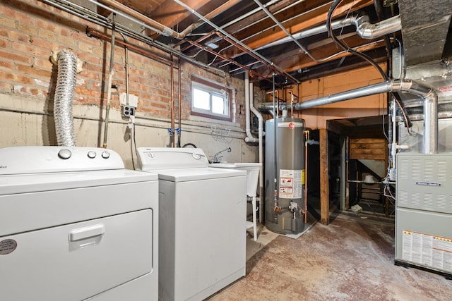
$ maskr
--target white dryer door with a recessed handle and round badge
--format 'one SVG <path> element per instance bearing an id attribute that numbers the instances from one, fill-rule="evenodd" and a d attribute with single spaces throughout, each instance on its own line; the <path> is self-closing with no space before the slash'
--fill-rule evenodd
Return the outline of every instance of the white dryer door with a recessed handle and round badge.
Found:
<path id="1" fill-rule="evenodd" d="M 156 235 L 153 210 L 144 209 L 0 237 L 10 249 L 0 254 L 0 298 L 79 301 L 102 293 L 153 271 Z"/>

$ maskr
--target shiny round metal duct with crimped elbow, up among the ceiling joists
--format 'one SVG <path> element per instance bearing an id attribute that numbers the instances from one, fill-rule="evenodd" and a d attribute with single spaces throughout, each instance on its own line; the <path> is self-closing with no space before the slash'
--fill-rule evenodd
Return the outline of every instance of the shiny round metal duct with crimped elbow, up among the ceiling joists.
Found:
<path id="1" fill-rule="evenodd" d="M 371 24 L 369 23 L 369 16 L 352 16 L 349 18 L 345 18 L 342 20 L 335 20 L 331 23 L 331 27 L 333 30 L 337 30 L 339 28 L 355 25 L 356 33 L 363 39 L 376 39 L 377 37 L 381 37 L 383 35 L 388 35 L 390 33 L 396 32 L 402 29 L 402 23 L 400 21 L 400 16 L 394 16 L 383 20 L 379 23 Z M 292 35 L 295 39 L 304 39 L 306 37 L 311 37 L 313 35 L 319 35 L 321 33 L 327 32 L 328 29 L 326 24 L 322 24 L 316 27 L 311 27 L 307 30 L 303 30 L 301 32 L 297 32 Z M 284 44 L 290 42 L 291 37 L 285 37 L 284 39 L 278 39 L 278 41 L 268 43 L 262 47 L 259 47 L 257 50 L 267 49 L 269 47 L 278 46 L 280 44 Z"/>

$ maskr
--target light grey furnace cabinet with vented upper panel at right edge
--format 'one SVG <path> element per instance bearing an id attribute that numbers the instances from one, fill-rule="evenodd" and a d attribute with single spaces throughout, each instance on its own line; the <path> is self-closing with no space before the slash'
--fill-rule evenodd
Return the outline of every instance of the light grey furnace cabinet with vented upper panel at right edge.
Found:
<path id="1" fill-rule="evenodd" d="M 452 278 L 452 154 L 398 154 L 396 264 Z"/>

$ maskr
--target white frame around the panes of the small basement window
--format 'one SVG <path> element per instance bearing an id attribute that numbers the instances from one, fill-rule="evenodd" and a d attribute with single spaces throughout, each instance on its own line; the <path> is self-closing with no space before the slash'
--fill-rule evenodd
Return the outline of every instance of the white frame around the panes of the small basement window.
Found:
<path id="1" fill-rule="evenodd" d="M 194 89 L 198 89 L 204 92 L 208 92 L 210 94 L 210 109 L 196 109 L 194 108 Z M 223 93 L 222 93 L 223 92 Z M 231 104 L 231 93 L 232 90 L 230 88 L 221 85 L 218 82 L 213 82 L 210 80 L 205 80 L 202 78 L 191 78 L 191 115 L 201 116 L 206 118 L 213 118 L 222 121 L 232 121 L 232 104 Z M 227 115 L 214 113 L 212 111 L 212 96 L 218 96 L 223 98 L 223 106 Z M 226 104 L 224 103 L 226 102 Z"/>

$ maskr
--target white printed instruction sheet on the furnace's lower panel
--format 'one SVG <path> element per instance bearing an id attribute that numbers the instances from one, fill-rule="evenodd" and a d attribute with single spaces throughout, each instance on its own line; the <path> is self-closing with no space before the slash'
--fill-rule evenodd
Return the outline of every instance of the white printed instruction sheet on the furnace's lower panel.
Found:
<path id="1" fill-rule="evenodd" d="M 404 260 L 452 271 L 452 238 L 404 230 L 402 245 Z"/>

